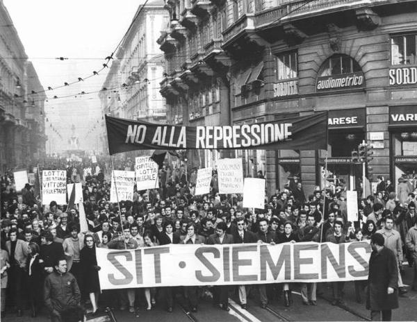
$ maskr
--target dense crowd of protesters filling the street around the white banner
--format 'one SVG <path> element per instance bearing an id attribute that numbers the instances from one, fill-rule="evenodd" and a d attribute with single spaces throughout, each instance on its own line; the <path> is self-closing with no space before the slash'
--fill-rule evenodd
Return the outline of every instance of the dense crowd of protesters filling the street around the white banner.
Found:
<path id="1" fill-rule="evenodd" d="M 64 162 L 65 163 L 65 162 Z M 62 169 L 63 163 L 46 164 L 44 169 Z M 361 242 L 375 234 L 384 237 L 385 248 L 395 255 L 396 289 L 407 292 L 402 283 L 402 263 L 414 267 L 412 289 L 417 289 L 416 191 L 395 194 L 391 183 L 378 178 L 377 192 L 358 201 L 359 221 L 347 221 L 345 191 L 342 187 L 320 190 L 305 196 L 299 178 L 265 199 L 265 209 L 252 212 L 242 206 L 240 195 L 222 195 L 217 173 L 213 172 L 211 193 L 194 196 L 197 170 L 163 166 L 159 189 L 136 191 L 133 201 L 110 203 L 110 180 L 105 164 L 66 164 L 67 181 L 83 183 L 83 200 L 88 231 L 81 232 L 77 205 L 47 206 L 40 203 L 34 187 L 27 184 L 21 194 L 13 185 L 13 173 L 1 176 L 1 316 L 6 306 L 22 316 L 27 307 L 36 316 L 46 307 L 52 321 L 64 321 L 91 305 L 95 316 L 100 307 L 114 306 L 138 312 L 152 310 L 157 301 L 167 312 L 175 303 L 197 312 L 199 300 L 213 298 L 213 304 L 228 311 L 228 298 L 236 290 L 240 305 L 247 307 L 247 296 L 257 294 L 265 308 L 281 298 L 286 307 L 293 303 L 292 290 L 300 287 L 302 304 L 318 305 L 320 283 L 300 285 L 236 285 L 236 287 L 159 287 L 105 290 L 100 292 L 95 257 L 97 247 L 134 249 L 165 244 L 234 244 L 286 242 Z M 118 162 L 116 169 L 132 169 L 133 164 Z M 262 173 L 258 173 L 262 176 Z M 388 180 L 387 180 L 388 182 Z M 404 180 L 400 184 L 404 183 Z M 407 184 L 405 182 L 405 184 Z M 380 240 L 375 237 L 376 242 Z M 68 273 L 69 272 L 69 273 Z M 66 288 L 56 285 L 65 281 Z M 352 282 L 353 283 L 353 282 Z M 332 282 L 332 305 L 343 304 L 345 282 Z M 366 281 L 355 281 L 358 303 L 365 298 Z M 370 299 L 378 294 L 368 294 Z M 386 304 L 388 305 L 388 304 Z M 392 307 L 395 308 L 395 307 Z M 74 310 L 75 309 L 75 310 Z M 386 306 L 386 310 L 389 310 Z M 81 313 L 80 313 L 81 312 Z M 77 315 L 78 314 L 78 315 Z M 386 316 L 385 316 L 386 317 Z M 60 320 L 62 319 L 62 320 Z M 388 319 L 388 318 L 386 318 Z"/>

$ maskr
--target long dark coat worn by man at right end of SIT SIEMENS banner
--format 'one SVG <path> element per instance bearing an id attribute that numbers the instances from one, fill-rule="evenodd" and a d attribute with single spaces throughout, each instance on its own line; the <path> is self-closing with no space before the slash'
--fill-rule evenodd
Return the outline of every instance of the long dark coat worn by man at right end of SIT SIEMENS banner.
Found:
<path id="1" fill-rule="evenodd" d="M 393 294 L 387 294 L 389 287 L 394 289 Z M 372 311 L 398 308 L 397 258 L 389 248 L 370 255 L 366 308 Z"/>

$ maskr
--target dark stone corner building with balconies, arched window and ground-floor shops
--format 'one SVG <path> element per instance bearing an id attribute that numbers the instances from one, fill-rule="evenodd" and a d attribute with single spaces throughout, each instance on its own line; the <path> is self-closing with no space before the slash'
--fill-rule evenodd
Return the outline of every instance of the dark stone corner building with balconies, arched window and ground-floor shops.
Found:
<path id="1" fill-rule="evenodd" d="M 352 150 L 371 142 L 373 178 L 417 172 L 417 1 L 165 0 L 161 94 L 171 124 L 251 124 L 329 111 L 327 151 L 236 151 L 268 189 L 299 175 L 357 189 Z M 202 167 L 215 158 L 206 151 Z M 370 170 L 370 169 L 369 169 Z M 410 180 L 416 185 L 416 180 Z"/>

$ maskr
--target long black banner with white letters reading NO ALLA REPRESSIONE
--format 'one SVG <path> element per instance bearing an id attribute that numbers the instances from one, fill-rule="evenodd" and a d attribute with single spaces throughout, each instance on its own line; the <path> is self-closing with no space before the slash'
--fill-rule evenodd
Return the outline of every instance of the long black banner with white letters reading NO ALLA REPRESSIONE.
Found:
<path id="1" fill-rule="evenodd" d="M 327 149 L 327 112 L 234 126 L 171 126 L 106 115 L 111 155 L 141 149 Z"/>

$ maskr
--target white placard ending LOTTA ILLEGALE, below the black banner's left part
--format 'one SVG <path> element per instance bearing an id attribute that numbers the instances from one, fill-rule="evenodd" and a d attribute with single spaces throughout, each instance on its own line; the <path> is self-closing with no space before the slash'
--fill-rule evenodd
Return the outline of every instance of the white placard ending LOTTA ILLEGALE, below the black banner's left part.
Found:
<path id="1" fill-rule="evenodd" d="M 138 191 L 158 187 L 158 164 L 150 157 L 136 157 L 135 173 Z"/>

